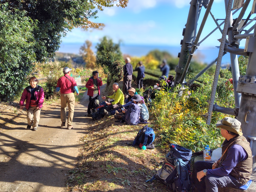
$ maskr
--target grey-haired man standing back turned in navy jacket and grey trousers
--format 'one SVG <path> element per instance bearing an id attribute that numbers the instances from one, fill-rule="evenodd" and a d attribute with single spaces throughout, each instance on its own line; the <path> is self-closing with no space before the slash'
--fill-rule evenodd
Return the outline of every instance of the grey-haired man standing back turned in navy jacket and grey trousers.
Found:
<path id="1" fill-rule="evenodd" d="M 129 57 L 125 58 L 125 65 L 124 65 L 124 79 L 123 79 L 123 94 L 127 94 L 127 90 L 132 87 L 132 65 L 131 59 Z"/>

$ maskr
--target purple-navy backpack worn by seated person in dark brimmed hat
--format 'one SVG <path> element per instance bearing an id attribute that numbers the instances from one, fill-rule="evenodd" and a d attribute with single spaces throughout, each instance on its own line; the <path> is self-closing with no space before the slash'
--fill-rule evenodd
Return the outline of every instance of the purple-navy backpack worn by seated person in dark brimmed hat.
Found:
<path id="1" fill-rule="evenodd" d="M 129 109 L 125 112 L 124 122 L 128 125 L 137 125 L 140 123 L 140 113 L 140 107 L 135 103 L 131 103 Z"/>

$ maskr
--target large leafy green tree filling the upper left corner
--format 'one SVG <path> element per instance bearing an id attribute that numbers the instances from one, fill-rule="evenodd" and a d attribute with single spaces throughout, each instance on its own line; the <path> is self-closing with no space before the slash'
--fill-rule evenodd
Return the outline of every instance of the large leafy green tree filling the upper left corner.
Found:
<path id="1" fill-rule="evenodd" d="M 0 74 L 5 73 L 5 78 L 0 79 L 0 100 L 8 100 L 23 87 L 33 63 L 54 57 L 61 37 L 68 31 L 74 27 L 103 27 L 88 19 L 97 18 L 95 8 L 103 10 L 116 2 L 124 8 L 128 0 L 1 1 Z"/>

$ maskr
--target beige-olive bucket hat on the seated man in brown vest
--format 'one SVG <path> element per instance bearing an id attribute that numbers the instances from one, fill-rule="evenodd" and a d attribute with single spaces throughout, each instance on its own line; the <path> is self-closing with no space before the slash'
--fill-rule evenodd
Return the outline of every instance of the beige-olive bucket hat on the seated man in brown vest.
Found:
<path id="1" fill-rule="evenodd" d="M 216 123 L 216 127 L 221 129 L 226 129 L 227 131 L 231 131 L 233 133 L 242 135 L 243 133 L 240 131 L 241 123 L 237 119 L 233 119 L 231 117 L 225 117 L 224 119 L 218 121 Z"/>

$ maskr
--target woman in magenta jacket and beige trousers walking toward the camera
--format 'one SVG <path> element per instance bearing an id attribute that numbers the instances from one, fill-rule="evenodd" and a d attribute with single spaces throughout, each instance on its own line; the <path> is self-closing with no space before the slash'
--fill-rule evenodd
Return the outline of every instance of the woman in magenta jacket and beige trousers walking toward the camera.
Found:
<path id="1" fill-rule="evenodd" d="M 31 77 L 29 79 L 30 86 L 24 89 L 19 101 L 19 108 L 22 110 L 26 100 L 25 108 L 27 111 L 28 120 L 27 129 L 30 129 L 31 125 L 33 125 L 33 131 L 37 131 L 38 123 L 40 120 L 40 112 L 44 102 L 44 90 L 42 87 L 38 86 L 37 83 L 37 78 Z"/>

